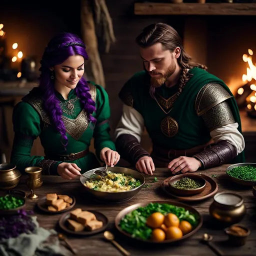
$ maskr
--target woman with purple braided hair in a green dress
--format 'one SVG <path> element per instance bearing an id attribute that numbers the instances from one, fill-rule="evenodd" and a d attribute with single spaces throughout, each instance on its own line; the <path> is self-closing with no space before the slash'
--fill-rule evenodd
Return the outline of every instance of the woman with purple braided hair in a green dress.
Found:
<path id="1" fill-rule="evenodd" d="M 72 179 L 99 163 L 89 152 L 94 137 L 97 158 L 115 165 L 120 156 L 109 135 L 110 108 L 106 91 L 83 77 L 88 59 L 83 41 L 71 33 L 54 36 L 40 61 L 39 86 L 13 110 L 11 162 L 24 173 L 41 166 L 43 174 Z M 30 156 L 39 136 L 45 156 Z"/>

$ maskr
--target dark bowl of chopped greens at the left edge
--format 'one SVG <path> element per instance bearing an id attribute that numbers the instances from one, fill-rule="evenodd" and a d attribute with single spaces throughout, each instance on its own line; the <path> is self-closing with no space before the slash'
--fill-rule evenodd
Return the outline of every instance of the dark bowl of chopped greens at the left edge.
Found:
<path id="1" fill-rule="evenodd" d="M 25 198 L 19 195 L 6 194 L 0 196 L 0 216 L 17 214 L 25 208 Z"/>

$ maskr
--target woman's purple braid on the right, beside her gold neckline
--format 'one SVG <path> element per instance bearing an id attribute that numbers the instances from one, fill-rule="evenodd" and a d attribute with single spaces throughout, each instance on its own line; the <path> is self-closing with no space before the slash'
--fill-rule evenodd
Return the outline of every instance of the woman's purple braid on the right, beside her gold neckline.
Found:
<path id="1" fill-rule="evenodd" d="M 95 102 L 91 98 L 89 93 L 89 85 L 85 79 L 81 78 L 82 82 L 78 82 L 76 85 L 76 95 L 80 99 L 80 102 L 87 112 L 87 118 L 91 122 L 96 122 L 96 119 L 92 116 L 92 113 L 95 111 Z"/>

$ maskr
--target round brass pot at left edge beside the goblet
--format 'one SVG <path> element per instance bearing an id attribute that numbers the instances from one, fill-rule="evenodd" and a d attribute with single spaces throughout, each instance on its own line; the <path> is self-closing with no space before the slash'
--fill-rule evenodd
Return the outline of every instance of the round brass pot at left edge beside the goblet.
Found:
<path id="1" fill-rule="evenodd" d="M 0 189 L 11 189 L 15 187 L 20 179 L 21 173 L 16 169 L 14 163 L 0 164 Z"/>

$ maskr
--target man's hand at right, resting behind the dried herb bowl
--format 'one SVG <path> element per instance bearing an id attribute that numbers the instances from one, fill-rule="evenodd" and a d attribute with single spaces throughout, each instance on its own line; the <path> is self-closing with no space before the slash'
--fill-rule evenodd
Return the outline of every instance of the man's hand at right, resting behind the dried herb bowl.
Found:
<path id="1" fill-rule="evenodd" d="M 201 165 L 201 162 L 194 157 L 180 156 L 170 161 L 168 168 L 172 174 L 176 174 L 179 171 L 181 173 L 196 171 Z"/>

